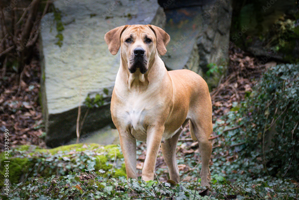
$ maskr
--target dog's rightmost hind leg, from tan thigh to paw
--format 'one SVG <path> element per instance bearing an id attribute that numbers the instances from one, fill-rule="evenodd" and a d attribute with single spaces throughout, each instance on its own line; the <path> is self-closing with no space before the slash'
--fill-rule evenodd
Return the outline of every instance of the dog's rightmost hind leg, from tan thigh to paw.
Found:
<path id="1" fill-rule="evenodd" d="M 205 112 L 205 109 L 201 110 Z M 209 142 L 209 136 L 213 131 L 212 114 L 200 113 L 201 117 L 190 119 L 190 132 L 192 138 L 196 138 L 199 145 L 200 156 L 202 160 L 202 170 L 200 172 L 201 185 L 209 187 L 211 173 L 209 168 L 210 158 L 212 154 L 212 145 Z"/>

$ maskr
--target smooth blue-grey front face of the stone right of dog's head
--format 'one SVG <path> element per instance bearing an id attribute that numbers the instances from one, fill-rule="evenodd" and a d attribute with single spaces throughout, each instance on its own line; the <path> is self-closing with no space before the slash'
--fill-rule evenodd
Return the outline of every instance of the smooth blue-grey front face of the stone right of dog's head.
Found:
<path id="1" fill-rule="evenodd" d="M 196 46 L 203 28 L 201 13 L 201 6 L 165 10 L 165 31 L 170 35 L 170 42 L 166 54 L 161 58 L 167 69 L 189 69 L 201 73 Z"/>

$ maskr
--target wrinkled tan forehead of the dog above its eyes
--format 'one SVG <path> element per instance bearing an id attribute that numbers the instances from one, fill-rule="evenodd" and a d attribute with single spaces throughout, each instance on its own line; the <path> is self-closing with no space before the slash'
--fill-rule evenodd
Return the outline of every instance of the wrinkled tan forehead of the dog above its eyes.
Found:
<path id="1" fill-rule="evenodd" d="M 151 36 L 152 39 L 155 38 L 155 33 L 152 31 L 151 28 L 147 25 L 130 25 L 126 30 L 123 31 L 121 34 L 121 38 L 126 37 L 128 35 L 134 35 L 134 36 Z"/>

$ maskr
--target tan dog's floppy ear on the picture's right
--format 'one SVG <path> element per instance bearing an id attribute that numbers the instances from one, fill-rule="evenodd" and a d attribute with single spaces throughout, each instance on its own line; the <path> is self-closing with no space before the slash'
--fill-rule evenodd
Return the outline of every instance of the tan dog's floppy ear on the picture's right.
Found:
<path id="1" fill-rule="evenodd" d="M 149 28 L 154 31 L 157 39 L 157 50 L 160 55 L 165 55 L 167 52 L 166 46 L 169 43 L 170 36 L 162 29 L 154 25 L 149 25 Z"/>

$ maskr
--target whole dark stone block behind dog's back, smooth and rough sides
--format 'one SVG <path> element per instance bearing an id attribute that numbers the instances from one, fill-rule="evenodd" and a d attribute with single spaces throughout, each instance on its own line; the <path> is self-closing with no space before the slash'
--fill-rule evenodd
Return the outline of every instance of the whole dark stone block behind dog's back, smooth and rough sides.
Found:
<path id="1" fill-rule="evenodd" d="M 171 38 L 162 60 L 170 70 L 189 69 L 204 76 L 208 64 L 225 64 L 228 57 L 232 5 L 229 0 L 188 3 L 184 7 L 176 1 L 159 1 L 166 9 L 165 31 Z M 213 85 L 219 74 L 205 78 Z"/>

